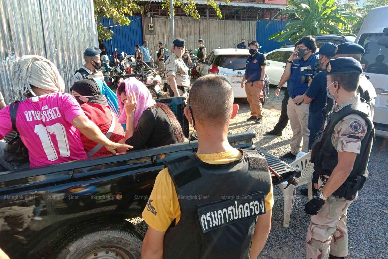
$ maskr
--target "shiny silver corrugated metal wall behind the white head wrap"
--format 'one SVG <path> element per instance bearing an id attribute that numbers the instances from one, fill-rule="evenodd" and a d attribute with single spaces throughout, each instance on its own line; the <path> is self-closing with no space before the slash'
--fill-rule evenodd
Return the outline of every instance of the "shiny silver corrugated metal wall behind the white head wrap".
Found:
<path id="1" fill-rule="evenodd" d="M 83 51 L 98 47 L 93 0 L 1 0 L 0 91 L 14 96 L 12 63 L 23 55 L 52 61 L 70 88 L 70 78 L 83 64 Z"/>

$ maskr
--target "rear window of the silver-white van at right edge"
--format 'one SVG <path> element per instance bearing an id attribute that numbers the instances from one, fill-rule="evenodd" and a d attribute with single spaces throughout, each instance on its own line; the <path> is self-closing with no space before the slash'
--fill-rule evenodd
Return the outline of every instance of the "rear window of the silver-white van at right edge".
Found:
<path id="1" fill-rule="evenodd" d="M 361 58 L 364 72 L 388 75 L 388 46 L 380 45 L 383 37 L 386 37 L 383 33 L 361 35 L 359 44 L 365 49 Z"/>

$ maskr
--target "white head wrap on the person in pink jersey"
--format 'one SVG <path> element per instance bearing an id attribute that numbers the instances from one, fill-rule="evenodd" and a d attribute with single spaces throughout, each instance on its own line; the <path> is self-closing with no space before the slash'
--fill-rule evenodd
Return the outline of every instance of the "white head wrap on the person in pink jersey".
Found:
<path id="1" fill-rule="evenodd" d="M 14 63 L 12 67 L 12 78 L 14 89 L 26 96 L 31 94 L 37 96 L 31 89 L 32 86 L 44 90 L 46 94 L 63 92 L 65 83 L 57 67 L 48 59 L 42 56 L 23 56 Z"/>

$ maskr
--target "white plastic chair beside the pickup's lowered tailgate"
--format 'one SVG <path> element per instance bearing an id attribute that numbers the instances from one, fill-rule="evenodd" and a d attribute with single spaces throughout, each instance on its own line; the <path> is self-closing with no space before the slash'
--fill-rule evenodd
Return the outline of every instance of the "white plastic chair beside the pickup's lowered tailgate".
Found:
<path id="1" fill-rule="evenodd" d="M 296 156 L 296 159 L 294 162 L 292 162 L 290 165 L 293 167 L 297 167 L 300 172 L 301 176 L 297 178 L 297 186 L 301 186 L 303 184 L 307 184 L 308 188 L 308 200 L 312 199 L 312 185 L 311 185 L 311 175 L 314 172 L 314 163 L 310 162 L 310 156 L 311 153 L 305 153 L 305 152 L 299 152 Z M 288 182 L 284 182 L 281 184 L 278 184 L 279 188 L 282 190 L 283 193 L 283 199 L 284 199 L 284 218 L 283 218 L 283 226 L 284 228 L 288 228 L 290 224 L 290 217 L 291 217 L 291 205 L 294 195 L 294 189 L 297 186 L 294 186 L 293 184 L 290 184 L 288 188 L 284 189 L 287 186 Z"/>

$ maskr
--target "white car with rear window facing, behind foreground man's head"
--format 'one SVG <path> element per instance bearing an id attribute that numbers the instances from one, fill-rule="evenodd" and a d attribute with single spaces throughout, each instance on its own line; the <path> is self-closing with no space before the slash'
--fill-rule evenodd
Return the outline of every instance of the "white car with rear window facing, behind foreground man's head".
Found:
<path id="1" fill-rule="evenodd" d="M 241 81 L 245 75 L 248 49 L 214 49 L 203 63 L 202 75 L 216 74 L 227 78 L 232 85 L 235 98 L 246 98 L 245 89 L 241 88 Z M 260 94 L 262 103 L 265 103 L 263 91 Z"/>

